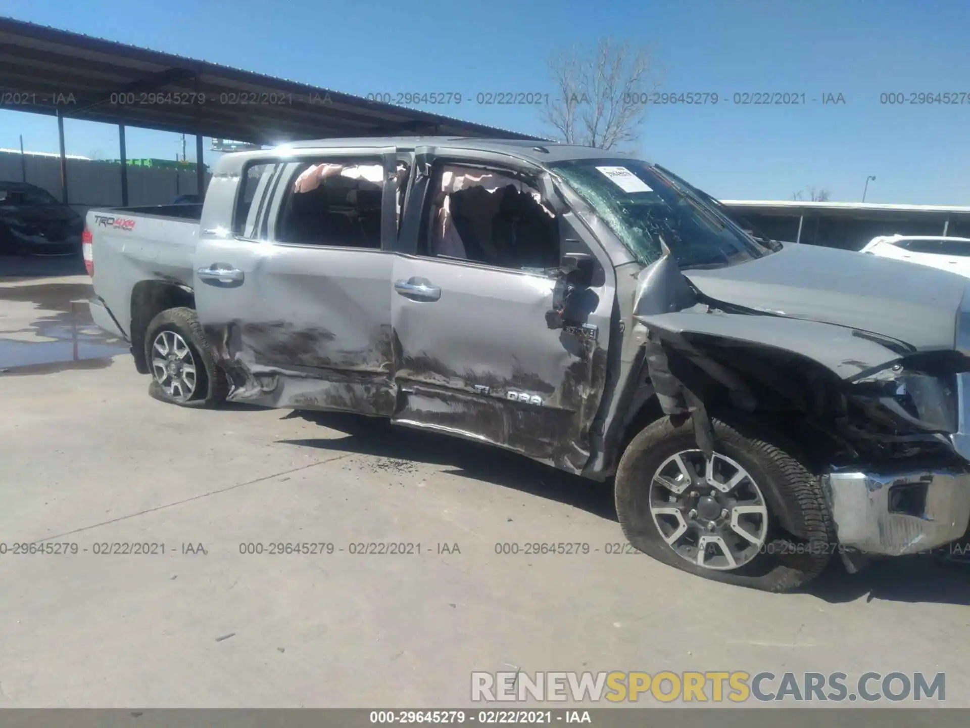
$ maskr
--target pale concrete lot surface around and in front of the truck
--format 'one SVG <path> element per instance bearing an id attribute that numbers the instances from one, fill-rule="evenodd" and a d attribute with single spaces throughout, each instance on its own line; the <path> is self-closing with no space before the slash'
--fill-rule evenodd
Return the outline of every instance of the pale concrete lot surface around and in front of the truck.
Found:
<path id="1" fill-rule="evenodd" d="M 959 567 L 772 595 L 607 554 L 608 487 L 519 456 L 150 399 L 72 313 L 86 277 L 34 267 L 0 280 L 0 707 L 459 707 L 516 669 L 944 672 L 970 706 Z M 12 553 L 42 540 L 78 552 Z M 241 552 L 278 542 L 334 551 Z M 351 553 L 375 542 L 420 553 Z M 496 553 L 560 542 L 589 553 Z M 164 553 L 96 553 L 124 543 Z"/>

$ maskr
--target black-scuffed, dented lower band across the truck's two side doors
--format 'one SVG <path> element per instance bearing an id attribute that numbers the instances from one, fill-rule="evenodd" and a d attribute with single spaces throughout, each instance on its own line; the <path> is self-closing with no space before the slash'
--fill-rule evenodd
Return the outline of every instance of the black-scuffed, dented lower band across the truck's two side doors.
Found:
<path id="1" fill-rule="evenodd" d="M 469 361 L 462 371 L 440 358 L 409 355 L 396 332 L 378 327 L 362 350 L 329 351 L 333 334 L 287 322 L 207 327 L 210 346 L 233 382 L 229 399 L 266 407 L 390 416 L 506 447 L 579 473 L 590 455 L 589 428 L 605 373 L 606 349 L 562 333 L 561 381 L 514 365 L 506 375 Z M 369 355 L 379 351 L 380 355 Z M 283 364 L 283 362 L 286 362 Z M 530 393 L 540 400 L 514 400 Z"/>

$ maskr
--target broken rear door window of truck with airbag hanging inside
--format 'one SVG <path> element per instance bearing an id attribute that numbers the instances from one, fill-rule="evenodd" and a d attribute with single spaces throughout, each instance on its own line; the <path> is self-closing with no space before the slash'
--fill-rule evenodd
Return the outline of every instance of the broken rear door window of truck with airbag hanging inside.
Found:
<path id="1" fill-rule="evenodd" d="M 383 170 L 379 158 L 307 162 L 285 192 L 276 240 L 380 248 Z"/>

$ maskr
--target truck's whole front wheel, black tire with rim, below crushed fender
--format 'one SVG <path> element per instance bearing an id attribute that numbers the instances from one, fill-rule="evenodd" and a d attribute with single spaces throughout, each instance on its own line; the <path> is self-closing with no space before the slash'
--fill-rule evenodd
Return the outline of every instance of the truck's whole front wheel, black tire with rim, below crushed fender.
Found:
<path id="1" fill-rule="evenodd" d="M 737 484 L 728 492 L 707 485 L 691 420 L 674 425 L 662 417 L 630 441 L 617 467 L 616 511 L 624 535 L 658 561 L 707 579 L 762 591 L 809 583 L 822 574 L 836 547 L 819 480 L 795 447 L 762 433 L 759 425 L 714 419 L 712 426 L 714 480 L 728 487 L 736 477 Z M 692 470 L 699 479 L 691 478 Z M 747 535 L 740 536 L 741 530 Z"/>

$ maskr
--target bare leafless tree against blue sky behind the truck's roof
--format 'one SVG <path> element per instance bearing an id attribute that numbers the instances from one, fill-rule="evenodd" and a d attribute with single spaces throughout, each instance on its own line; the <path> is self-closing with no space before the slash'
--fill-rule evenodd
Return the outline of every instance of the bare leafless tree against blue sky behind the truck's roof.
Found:
<path id="1" fill-rule="evenodd" d="M 634 144 L 647 101 L 661 86 L 651 47 L 608 39 L 592 50 L 572 48 L 553 57 L 549 70 L 555 92 L 542 121 L 566 144 L 598 149 Z"/>

